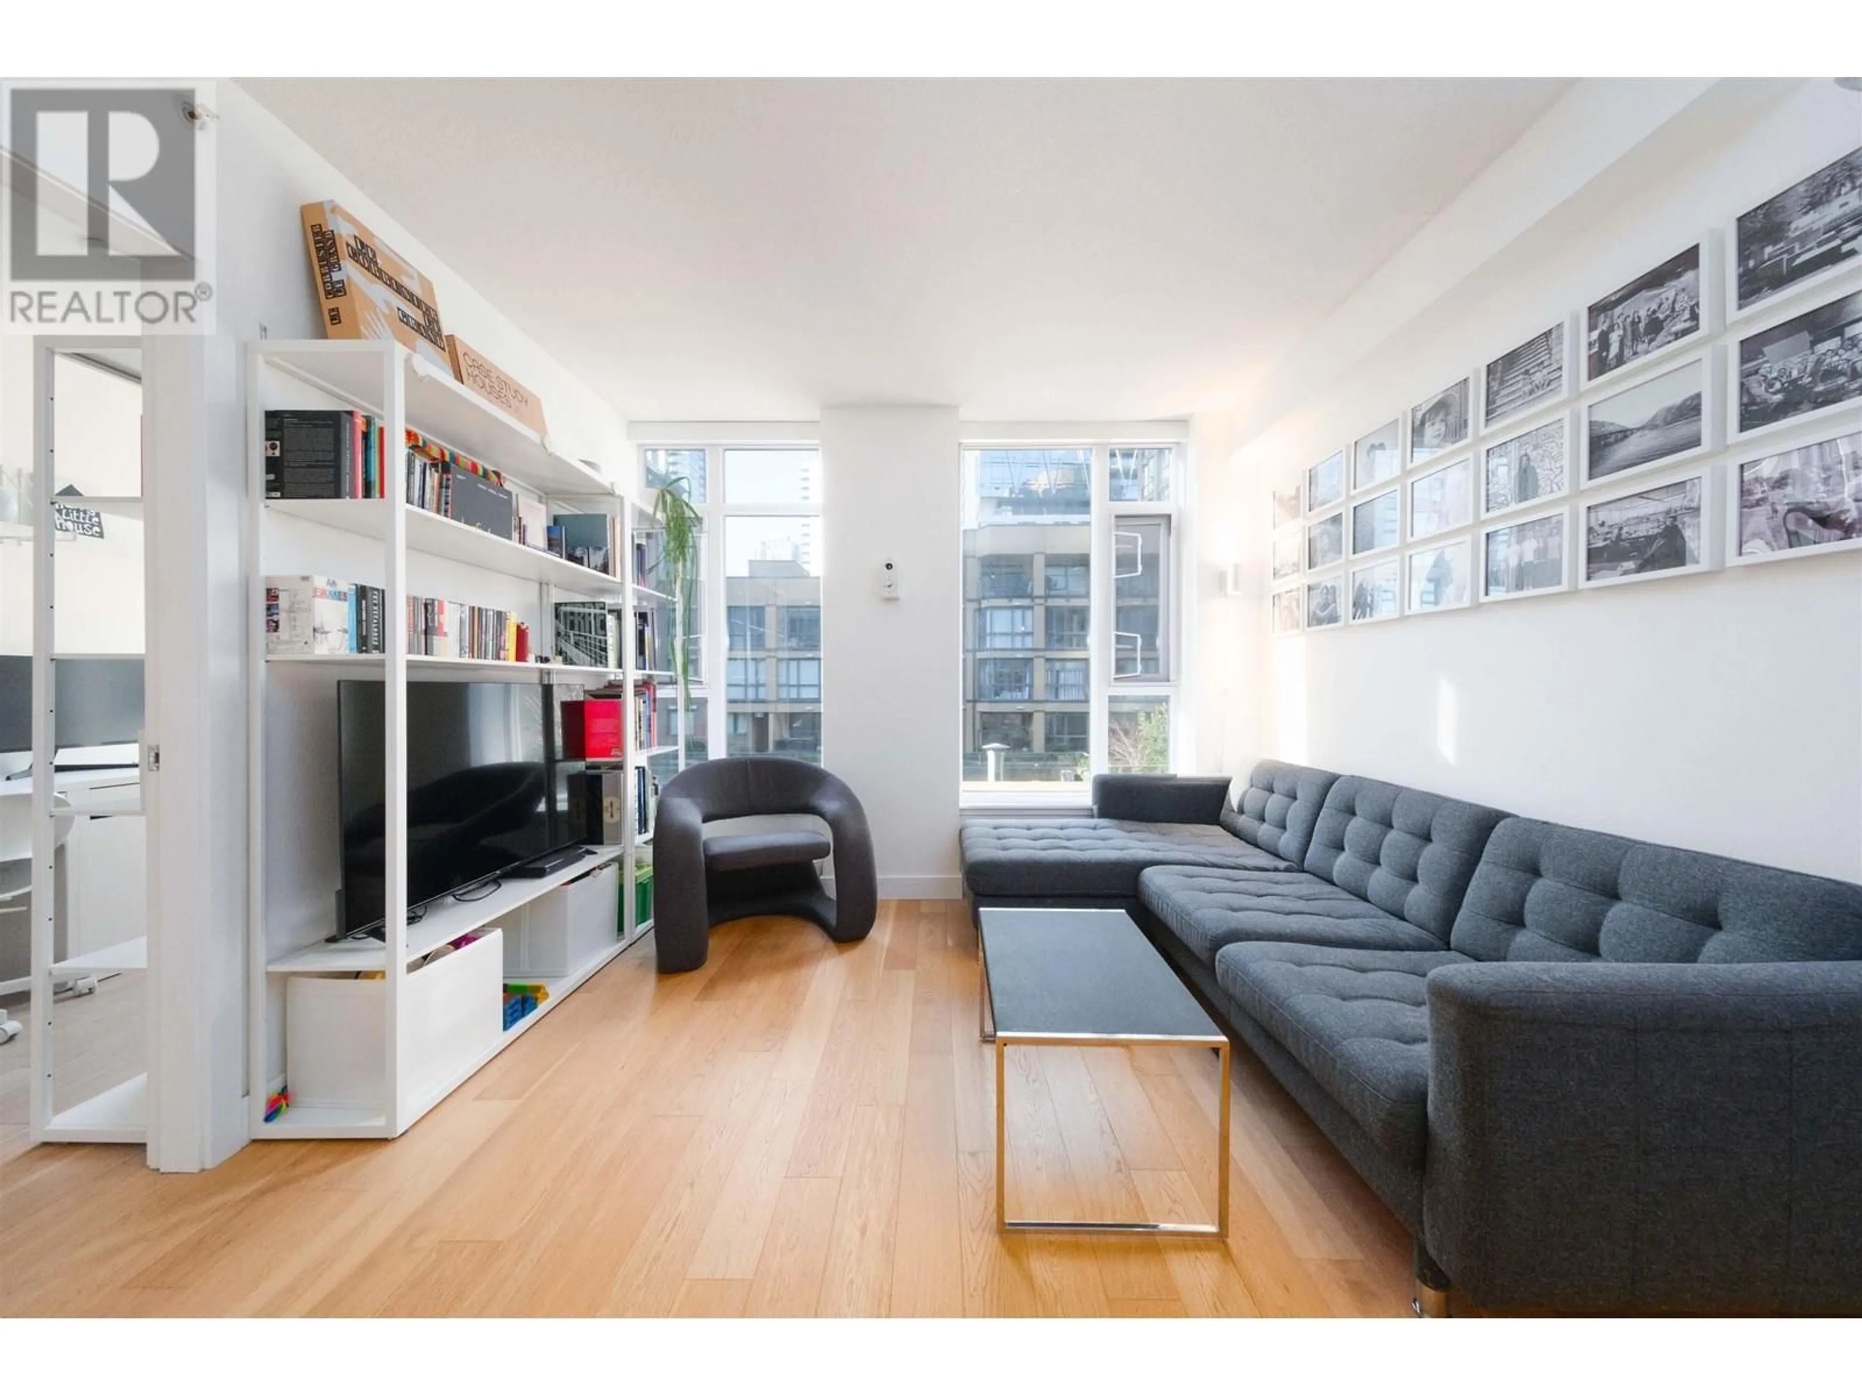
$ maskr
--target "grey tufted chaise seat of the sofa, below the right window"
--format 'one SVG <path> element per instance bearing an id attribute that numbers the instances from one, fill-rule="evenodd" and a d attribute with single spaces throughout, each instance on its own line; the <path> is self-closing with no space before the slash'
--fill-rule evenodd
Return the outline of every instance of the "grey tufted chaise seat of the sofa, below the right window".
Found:
<path id="1" fill-rule="evenodd" d="M 1123 819 L 970 821 L 959 834 L 963 877 L 981 897 L 1138 895 L 1138 875 L 1156 864 L 1192 867 L 1292 866 L 1216 825 L 1143 825 Z"/>

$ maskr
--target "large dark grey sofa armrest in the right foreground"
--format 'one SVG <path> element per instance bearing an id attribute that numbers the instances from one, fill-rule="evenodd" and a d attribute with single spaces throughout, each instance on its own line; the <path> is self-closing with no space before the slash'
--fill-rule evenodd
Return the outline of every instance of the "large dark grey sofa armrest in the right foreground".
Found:
<path id="1" fill-rule="evenodd" d="M 1428 1251 L 1480 1303 L 1862 1307 L 1862 962 L 1428 977 Z"/>

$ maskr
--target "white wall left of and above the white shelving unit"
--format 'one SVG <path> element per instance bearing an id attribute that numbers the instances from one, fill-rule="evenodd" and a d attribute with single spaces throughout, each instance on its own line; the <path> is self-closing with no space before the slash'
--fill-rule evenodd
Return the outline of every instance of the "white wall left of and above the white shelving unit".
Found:
<path id="1" fill-rule="evenodd" d="M 164 724 L 162 741 L 164 769 L 182 763 L 203 780 L 194 791 L 201 815 L 190 864 L 196 877 L 182 890 L 194 899 L 201 940 L 186 955 L 196 983 L 179 990 L 205 1005 L 203 1040 L 194 1054 L 209 1102 L 201 1163 L 225 1158 L 246 1139 L 246 836 L 251 815 L 246 810 L 244 655 L 251 584 L 240 551 L 248 471 L 242 348 L 261 333 L 320 337 L 298 208 L 313 199 L 341 201 L 434 281 L 449 331 L 536 391 L 551 437 L 564 454 L 596 460 L 616 477 L 629 465 L 626 424 L 605 402 L 380 205 L 238 86 L 220 84 L 218 108 L 218 333 L 186 346 L 197 356 L 192 361 L 162 359 L 151 374 L 153 391 L 166 398 L 153 400 L 153 411 L 171 411 L 188 393 L 197 395 L 199 406 L 197 413 L 169 419 L 173 426 L 156 434 L 156 462 L 173 471 L 173 488 L 190 495 L 179 501 L 181 519 L 164 534 L 175 564 L 164 599 L 188 605 L 196 618 L 177 648 L 188 646 L 201 691 L 192 707 L 175 711 Z M 179 916 L 179 906 L 181 901 L 164 901 L 164 918 Z M 186 1167 L 182 1154 L 162 1165 Z"/>

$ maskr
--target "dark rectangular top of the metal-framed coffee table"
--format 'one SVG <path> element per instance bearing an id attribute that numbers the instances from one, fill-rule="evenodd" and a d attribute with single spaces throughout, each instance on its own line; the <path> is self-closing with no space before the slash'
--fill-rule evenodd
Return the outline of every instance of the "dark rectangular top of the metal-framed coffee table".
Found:
<path id="1" fill-rule="evenodd" d="M 1225 1040 L 1125 912 L 989 906 L 981 923 L 996 1037 Z"/>

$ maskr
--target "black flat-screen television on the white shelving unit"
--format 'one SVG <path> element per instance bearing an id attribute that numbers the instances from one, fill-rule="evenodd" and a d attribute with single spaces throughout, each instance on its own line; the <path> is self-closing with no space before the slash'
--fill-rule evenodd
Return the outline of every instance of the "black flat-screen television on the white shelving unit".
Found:
<path id="1" fill-rule="evenodd" d="M 577 841 L 549 685 L 410 683 L 406 692 L 410 912 Z M 387 905 L 380 681 L 337 685 L 337 748 L 343 933 L 380 936 Z"/>

